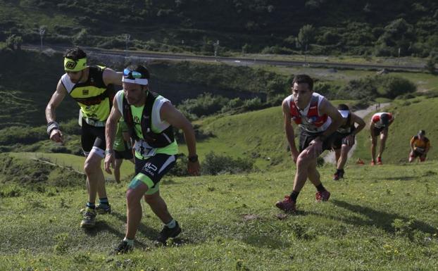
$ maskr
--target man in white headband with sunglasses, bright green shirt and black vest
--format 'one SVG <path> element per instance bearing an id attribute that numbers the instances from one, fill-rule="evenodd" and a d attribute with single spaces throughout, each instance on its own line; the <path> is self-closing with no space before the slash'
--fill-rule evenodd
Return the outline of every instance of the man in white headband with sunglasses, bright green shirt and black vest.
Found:
<path id="1" fill-rule="evenodd" d="M 135 176 L 126 192 L 127 228 L 123 241 L 115 248 L 116 253 L 126 253 L 134 246 L 134 237 L 142 219 L 144 196 L 146 203 L 164 223 L 158 241 L 177 237 L 180 225 L 172 218 L 165 201 L 160 196 L 160 179 L 175 165 L 178 152 L 173 127 L 182 129 L 189 151 L 187 165 L 190 174 L 198 174 L 196 141 L 192 124 L 170 103 L 149 89 L 149 71 L 142 65 L 123 70 L 123 90 L 114 98 L 111 114 L 106 122 L 105 170 L 111 174 L 114 167 L 113 142 L 115 129 L 123 117 L 134 139 Z"/>

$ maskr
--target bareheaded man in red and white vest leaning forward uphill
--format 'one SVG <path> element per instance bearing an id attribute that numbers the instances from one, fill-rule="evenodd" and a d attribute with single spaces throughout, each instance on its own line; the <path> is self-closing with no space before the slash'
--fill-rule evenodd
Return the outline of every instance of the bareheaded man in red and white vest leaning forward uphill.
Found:
<path id="1" fill-rule="evenodd" d="M 313 92 L 313 80 L 308 75 L 296 75 L 292 82 L 292 95 L 282 103 L 284 131 L 296 163 L 292 193 L 277 201 L 275 206 L 286 212 L 296 210 L 296 198 L 307 178 L 316 187 L 316 201 L 328 201 L 330 192 L 320 181 L 316 158 L 331 149 L 334 132 L 342 123 L 342 116 L 324 96 Z M 300 128 L 299 150 L 296 149 L 292 120 Z"/>

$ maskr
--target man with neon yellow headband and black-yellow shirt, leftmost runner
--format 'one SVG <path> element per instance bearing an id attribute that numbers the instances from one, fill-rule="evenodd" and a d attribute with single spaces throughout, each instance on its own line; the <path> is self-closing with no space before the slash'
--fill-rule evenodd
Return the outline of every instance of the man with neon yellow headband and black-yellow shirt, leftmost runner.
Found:
<path id="1" fill-rule="evenodd" d="M 80 48 L 69 49 L 65 53 L 64 70 L 65 74 L 46 106 L 47 134 L 51 140 L 63 142 L 55 111 L 69 94 L 80 106 L 81 144 L 87 157 L 84 171 L 87 175 L 88 201 L 82 209 L 83 220 L 80 225 L 94 227 L 96 213 L 111 213 L 101 160 L 105 157 L 105 122 L 113 101 L 113 84 L 122 84 L 122 73 L 87 65 L 87 54 Z M 97 206 L 94 205 L 96 193 L 99 194 Z"/>

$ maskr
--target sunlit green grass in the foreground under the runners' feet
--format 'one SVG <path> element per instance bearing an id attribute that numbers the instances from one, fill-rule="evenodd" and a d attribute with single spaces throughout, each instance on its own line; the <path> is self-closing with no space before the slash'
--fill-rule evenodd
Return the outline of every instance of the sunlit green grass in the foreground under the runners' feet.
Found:
<path id="1" fill-rule="evenodd" d="M 2 270 L 433 270 L 438 264 L 436 161 L 351 165 L 346 179 L 321 168 L 327 203 L 306 184 L 296 215 L 273 203 L 292 189 L 292 171 L 216 177 L 165 177 L 161 194 L 183 232 L 168 247 L 144 206 L 134 252 L 108 253 L 125 233 L 125 187 L 108 184 L 113 214 L 80 229 L 85 188 L 0 198 Z M 14 189 L 4 184 L 0 191 Z M 16 187 L 15 187 L 16 189 Z"/>

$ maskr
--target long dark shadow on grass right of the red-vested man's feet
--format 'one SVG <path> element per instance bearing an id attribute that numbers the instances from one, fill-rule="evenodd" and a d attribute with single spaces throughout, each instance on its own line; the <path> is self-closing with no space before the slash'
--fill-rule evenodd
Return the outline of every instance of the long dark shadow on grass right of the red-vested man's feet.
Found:
<path id="1" fill-rule="evenodd" d="M 345 222 L 359 226 L 363 226 L 363 225 L 376 226 L 379 227 L 380 229 L 384 229 L 386 232 L 389 233 L 394 233 L 394 227 L 391 225 L 392 222 L 394 222 L 394 220 L 396 219 L 404 220 L 404 221 L 410 220 L 410 218 L 406 218 L 402 215 L 387 213 L 382 210 L 375 210 L 373 208 L 355 205 L 345 201 L 337 201 L 334 199 L 334 200 L 330 200 L 330 202 L 336 206 L 339 206 L 346 210 L 350 210 L 351 212 L 360 213 L 361 215 L 366 215 L 368 217 L 368 220 L 361 218 L 333 218 L 333 219 L 335 220 L 341 219 L 344 220 Z M 413 228 L 418 229 L 424 233 L 429 233 L 429 234 L 435 233 L 434 227 L 420 220 L 413 220 Z"/>

